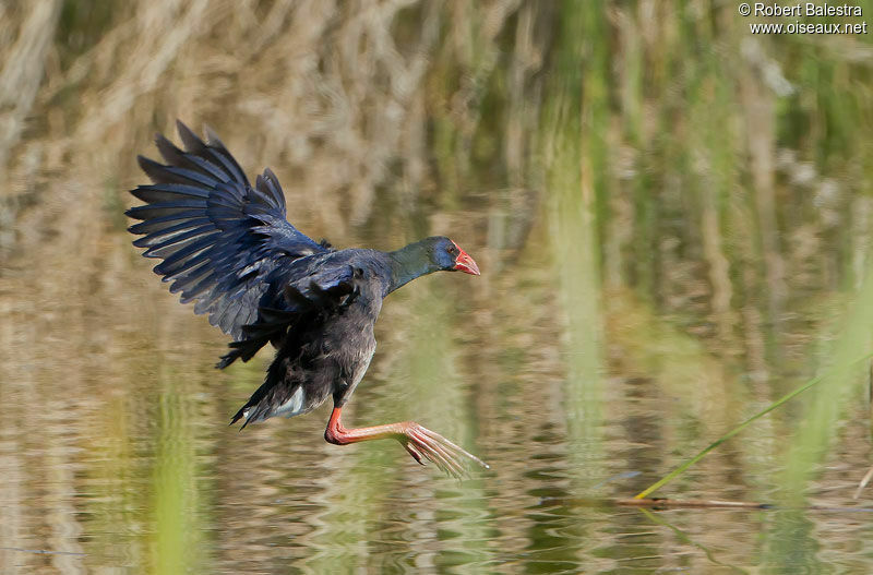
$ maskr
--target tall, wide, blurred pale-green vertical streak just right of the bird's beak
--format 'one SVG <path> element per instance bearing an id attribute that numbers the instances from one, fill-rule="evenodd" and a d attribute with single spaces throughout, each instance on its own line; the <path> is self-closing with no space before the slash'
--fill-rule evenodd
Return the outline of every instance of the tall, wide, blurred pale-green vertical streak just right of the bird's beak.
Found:
<path id="1" fill-rule="evenodd" d="M 540 135 L 546 156 L 546 182 L 551 203 L 552 254 L 565 314 L 567 376 L 566 426 L 570 457 L 581 475 L 599 458 L 602 445 L 602 314 L 597 264 L 596 190 L 603 167 L 603 145 L 597 128 L 605 120 L 602 53 L 597 51 L 593 23 L 600 17 L 596 3 L 564 4 L 559 34 L 558 67 L 546 98 Z M 586 50 L 593 50 L 587 53 Z M 584 57 L 590 69 L 579 65 Z M 583 91 L 583 72 L 586 76 Z"/>

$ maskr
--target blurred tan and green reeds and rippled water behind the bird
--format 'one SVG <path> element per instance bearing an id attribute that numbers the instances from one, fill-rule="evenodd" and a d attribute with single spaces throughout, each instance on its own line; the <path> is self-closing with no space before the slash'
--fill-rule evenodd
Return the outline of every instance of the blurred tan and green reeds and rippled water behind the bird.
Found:
<path id="1" fill-rule="evenodd" d="M 873 46 L 751 20 L 703 0 L 0 2 L 3 573 L 869 571 L 865 516 L 573 503 L 632 495 L 836 367 L 660 494 L 856 505 Z M 386 302 L 350 421 L 419 419 L 491 472 L 325 445 L 323 410 L 225 429 L 267 355 L 212 370 L 224 338 L 124 231 L 135 156 L 176 118 L 272 167 L 316 239 L 445 233 L 479 261 Z"/>

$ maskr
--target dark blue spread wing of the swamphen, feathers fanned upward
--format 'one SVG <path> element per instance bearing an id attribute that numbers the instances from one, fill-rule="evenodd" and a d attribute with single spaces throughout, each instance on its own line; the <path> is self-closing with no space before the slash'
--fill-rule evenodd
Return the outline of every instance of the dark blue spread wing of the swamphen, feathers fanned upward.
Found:
<path id="1" fill-rule="evenodd" d="M 154 269 L 171 283 L 170 292 L 239 342 L 248 337 L 243 326 L 262 321 L 259 309 L 294 311 L 284 290 L 296 264 L 333 250 L 288 223 L 270 169 L 252 188 L 213 133 L 205 143 L 183 123 L 177 128 L 184 151 L 158 134 L 166 164 L 139 157 L 153 183 L 131 190 L 145 202 L 127 212 L 141 220 L 130 227 L 143 236 L 133 244 L 163 260 Z"/>

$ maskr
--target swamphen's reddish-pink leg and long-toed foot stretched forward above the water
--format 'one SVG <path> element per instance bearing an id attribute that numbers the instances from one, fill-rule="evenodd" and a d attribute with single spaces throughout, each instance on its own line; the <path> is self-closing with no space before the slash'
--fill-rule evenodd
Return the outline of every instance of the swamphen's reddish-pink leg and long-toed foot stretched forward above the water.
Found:
<path id="1" fill-rule="evenodd" d="M 373 426 L 371 428 L 346 429 L 339 420 L 342 407 L 334 407 L 331 420 L 327 421 L 327 429 L 324 430 L 324 439 L 335 445 L 348 445 L 359 441 L 394 439 L 400 442 L 412 458 L 424 465 L 424 460 L 433 462 L 436 467 L 454 477 L 464 475 L 462 462 L 464 457 L 476 462 L 486 469 L 488 464 L 475 455 L 458 447 L 439 433 L 423 428 L 415 421 L 402 421 L 399 423 L 387 423 L 384 426 Z"/>

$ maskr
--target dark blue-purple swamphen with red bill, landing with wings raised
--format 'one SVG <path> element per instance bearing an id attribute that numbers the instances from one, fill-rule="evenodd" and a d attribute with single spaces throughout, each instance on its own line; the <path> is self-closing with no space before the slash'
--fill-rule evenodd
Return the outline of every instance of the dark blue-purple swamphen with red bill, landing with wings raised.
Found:
<path id="1" fill-rule="evenodd" d="M 335 250 L 288 223 L 276 176 L 264 170 L 249 184 L 239 164 L 207 131 L 203 142 L 177 122 L 186 147 L 158 134 L 166 164 L 139 156 L 153 181 L 131 193 L 146 202 L 128 216 L 146 257 L 164 260 L 155 273 L 171 281 L 182 303 L 208 313 L 229 334 L 218 368 L 248 361 L 267 343 L 278 350 L 263 385 L 234 416 L 242 427 L 273 416 L 306 414 L 333 397 L 324 439 L 336 445 L 392 438 L 420 464 L 424 458 L 461 476 L 464 458 L 487 467 L 442 435 L 412 421 L 346 429 L 343 406 L 375 350 L 373 324 L 382 299 L 412 279 L 439 271 L 479 275 L 476 262 L 444 237 L 393 252 Z"/>

